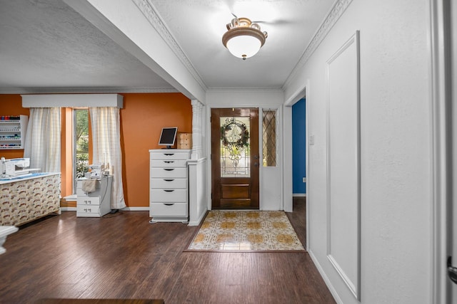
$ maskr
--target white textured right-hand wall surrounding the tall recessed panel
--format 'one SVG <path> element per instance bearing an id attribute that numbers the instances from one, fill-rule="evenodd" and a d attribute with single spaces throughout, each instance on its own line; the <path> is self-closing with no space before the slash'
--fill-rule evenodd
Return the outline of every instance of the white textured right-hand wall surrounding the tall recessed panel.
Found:
<path id="1" fill-rule="evenodd" d="M 286 88 L 308 83 L 308 251 L 341 303 L 358 301 L 327 258 L 326 61 L 360 30 L 361 303 L 431 303 L 429 26 L 426 0 L 353 0 Z"/>

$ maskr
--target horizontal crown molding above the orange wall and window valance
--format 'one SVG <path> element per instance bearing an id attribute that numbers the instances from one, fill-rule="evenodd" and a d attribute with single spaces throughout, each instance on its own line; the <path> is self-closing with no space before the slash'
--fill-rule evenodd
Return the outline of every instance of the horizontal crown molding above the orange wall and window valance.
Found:
<path id="1" fill-rule="evenodd" d="M 175 88 L 0 88 L 0 94 L 179 93 Z"/>

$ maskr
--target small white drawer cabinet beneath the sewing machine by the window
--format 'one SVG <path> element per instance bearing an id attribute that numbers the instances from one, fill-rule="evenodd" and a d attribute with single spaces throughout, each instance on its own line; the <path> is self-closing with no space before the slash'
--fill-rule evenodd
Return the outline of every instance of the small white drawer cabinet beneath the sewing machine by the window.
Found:
<path id="1" fill-rule="evenodd" d="M 113 177 L 107 176 L 97 180 L 94 192 L 84 192 L 84 179 L 76 181 L 76 216 L 101 217 L 111 211 L 111 187 Z"/>

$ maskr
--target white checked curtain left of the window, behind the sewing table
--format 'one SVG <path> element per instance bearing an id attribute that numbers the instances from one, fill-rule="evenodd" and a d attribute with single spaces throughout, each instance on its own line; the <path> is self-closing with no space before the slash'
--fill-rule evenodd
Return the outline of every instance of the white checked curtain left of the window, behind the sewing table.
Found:
<path id="1" fill-rule="evenodd" d="M 30 108 L 24 157 L 30 157 L 30 167 L 41 172 L 61 172 L 61 110 L 60 108 Z"/>

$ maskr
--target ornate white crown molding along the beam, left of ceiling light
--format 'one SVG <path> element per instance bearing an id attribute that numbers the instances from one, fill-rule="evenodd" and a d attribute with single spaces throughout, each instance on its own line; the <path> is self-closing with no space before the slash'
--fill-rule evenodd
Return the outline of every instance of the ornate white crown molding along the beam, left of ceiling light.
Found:
<path id="1" fill-rule="evenodd" d="M 171 50 L 174 52 L 176 57 L 179 58 L 179 61 L 184 64 L 187 70 L 189 70 L 189 73 L 194 77 L 194 79 L 201 85 L 201 88 L 204 90 L 207 89 L 206 84 L 204 81 L 201 79 L 201 76 L 197 72 L 196 68 L 194 65 L 192 65 L 191 61 L 189 61 L 189 58 L 186 56 L 186 53 L 182 50 L 181 46 L 179 46 L 179 43 L 176 41 L 174 36 L 171 34 L 169 31 L 169 28 L 166 26 L 165 22 L 161 18 L 160 14 L 158 11 L 156 11 L 154 5 L 151 3 L 150 0 L 132 0 L 136 7 L 141 11 L 141 14 L 143 14 L 146 19 L 148 19 L 149 23 L 151 23 L 151 26 L 153 26 L 156 31 L 159 33 L 159 35 L 164 39 L 166 44 L 171 48 Z"/>

